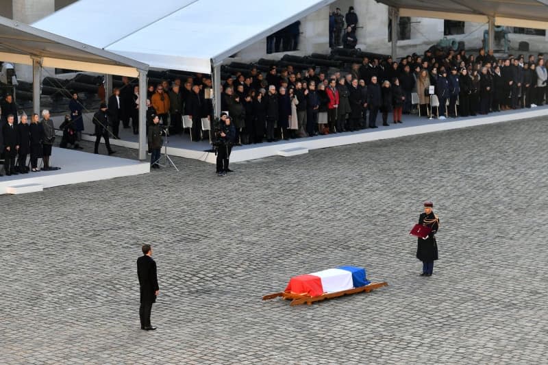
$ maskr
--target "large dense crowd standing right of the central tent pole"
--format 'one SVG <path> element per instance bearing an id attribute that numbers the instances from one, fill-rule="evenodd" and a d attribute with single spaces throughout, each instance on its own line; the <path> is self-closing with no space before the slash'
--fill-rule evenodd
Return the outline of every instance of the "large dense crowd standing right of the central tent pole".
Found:
<path id="1" fill-rule="evenodd" d="M 399 62 L 364 58 L 329 75 L 271 66 L 263 77 L 251 68 L 225 81 L 221 108 L 234 121 L 237 142 L 273 142 L 376 128 L 379 116 L 388 126 L 390 115 L 402 123 L 414 112 L 445 119 L 532 108 L 545 103 L 547 78 L 542 53 L 497 60 L 493 51 L 425 51 Z"/>

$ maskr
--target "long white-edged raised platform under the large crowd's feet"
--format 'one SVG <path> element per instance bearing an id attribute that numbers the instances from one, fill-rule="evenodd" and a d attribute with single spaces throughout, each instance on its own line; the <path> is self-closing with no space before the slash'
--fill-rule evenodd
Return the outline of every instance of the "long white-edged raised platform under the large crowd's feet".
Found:
<path id="1" fill-rule="evenodd" d="M 434 131 L 447 131 L 449 129 L 458 129 L 473 127 L 476 125 L 488 125 L 492 123 L 502 123 L 516 121 L 519 119 L 535 118 L 538 116 L 547 116 L 548 106 L 510 110 L 506 112 L 490 113 L 486 116 L 469 116 L 465 118 L 447 118 L 445 120 L 419 118 L 416 115 L 404 115 L 403 123 L 394 125 L 391 123 L 391 114 L 388 117 L 389 127 L 382 126 L 382 119 L 379 114 L 377 118 L 377 129 L 364 129 L 355 132 L 345 132 L 341 134 L 329 134 L 327 136 L 316 136 L 312 138 L 298 138 L 294 140 L 281 140 L 278 142 L 263 142 L 260 144 L 246 144 L 234 147 L 230 155 L 231 162 L 242 162 L 266 158 L 270 156 L 292 156 L 302 153 L 308 153 L 311 149 L 323 149 L 326 147 L 342 146 L 360 142 L 369 142 L 373 140 L 384 140 L 388 138 L 397 138 L 403 136 L 413 136 L 416 134 L 425 134 Z M 88 116 L 85 118 L 84 140 L 95 140 L 95 137 L 86 135 L 86 132 L 92 133 L 93 125 Z M 61 123 L 60 119 L 56 121 L 57 127 Z M 110 140 L 114 146 L 129 147 L 138 149 L 138 136 L 134 135 L 132 129 L 120 129 L 121 140 Z M 207 134 L 206 134 L 207 136 Z M 170 136 L 167 144 L 168 153 L 182 158 L 192 158 L 205 162 L 215 163 L 216 156 L 208 152 L 211 148 L 209 141 L 191 142 L 188 134 L 181 136 Z M 104 147 L 101 147 L 104 150 Z M 162 149 L 162 153 L 164 149 Z"/>

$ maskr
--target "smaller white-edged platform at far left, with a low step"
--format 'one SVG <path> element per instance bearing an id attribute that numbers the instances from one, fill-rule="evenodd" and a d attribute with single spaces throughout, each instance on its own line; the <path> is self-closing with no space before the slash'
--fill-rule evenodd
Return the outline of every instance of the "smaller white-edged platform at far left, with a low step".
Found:
<path id="1" fill-rule="evenodd" d="M 43 188 L 53 186 L 150 172 L 149 162 L 95 155 L 57 147 L 53 147 L 51 165 L 61 169 L 0 177 L 0 194 L 22 194 L 23 192 L 41 191 Z"/>

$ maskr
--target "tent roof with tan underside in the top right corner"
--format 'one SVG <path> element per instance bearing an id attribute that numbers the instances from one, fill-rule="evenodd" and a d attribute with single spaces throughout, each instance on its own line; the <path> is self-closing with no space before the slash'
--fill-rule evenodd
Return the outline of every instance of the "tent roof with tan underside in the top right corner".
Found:
<path id="1" fill-rule="evenodd" d="M 548 29 L 548 0 L 377 0 L 403 16 L 488 21 L 514 27 Z M 466 16 L 462 16 L 462 15 Z"/>

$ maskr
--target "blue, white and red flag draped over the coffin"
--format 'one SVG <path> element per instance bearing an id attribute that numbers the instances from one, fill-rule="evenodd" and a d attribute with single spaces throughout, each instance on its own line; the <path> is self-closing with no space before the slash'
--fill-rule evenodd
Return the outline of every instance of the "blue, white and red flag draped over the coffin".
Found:
<path id="1" fill-rule="evenodd" d="M 332 292 L 342 292 L 352 288 L 360 288 L 370 283 L 366 279 L 364 268 L 355 266 L 339 266 L 308 275 L 298 275 L 289 280 L 286 292 L 293 294 L 319 295 Z"/>

